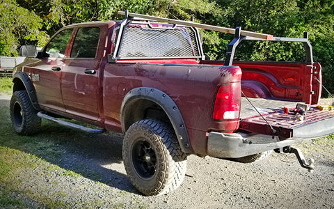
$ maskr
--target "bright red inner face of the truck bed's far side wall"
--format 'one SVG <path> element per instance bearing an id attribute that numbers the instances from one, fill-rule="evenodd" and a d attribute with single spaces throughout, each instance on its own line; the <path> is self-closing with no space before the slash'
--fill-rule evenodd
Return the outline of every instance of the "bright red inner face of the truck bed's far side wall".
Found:
<path id="1" fill-rule="evenodd" d="M 202 61 L 207 64 L 221 64 L 222 61 Z M 321 81 L 319 63 L 289 62 L 234 62 L 241 68 L 241 88 L 250 98 L 271 98 L 294 100 L 317 104 L 321 88 L 315 76 Z M 315 94 L 311 94 L 311 91 Z"/>

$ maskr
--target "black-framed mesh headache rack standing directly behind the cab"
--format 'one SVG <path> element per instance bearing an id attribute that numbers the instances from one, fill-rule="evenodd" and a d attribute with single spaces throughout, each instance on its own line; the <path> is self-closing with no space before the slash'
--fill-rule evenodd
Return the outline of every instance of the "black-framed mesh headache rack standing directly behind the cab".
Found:
<path id="1" fill-rule="evenodd" d="M 198 29 L 126 17 L 114 29 L 109 63 L 118 59 L 203 59 Z"/>

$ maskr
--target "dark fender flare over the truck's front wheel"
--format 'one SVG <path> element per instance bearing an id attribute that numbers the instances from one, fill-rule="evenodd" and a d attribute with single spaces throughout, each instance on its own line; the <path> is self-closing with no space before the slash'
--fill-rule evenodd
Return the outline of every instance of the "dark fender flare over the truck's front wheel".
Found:
<path id="1" fill-rule="evenodd" d="M 31 104 L 33 104 L 33 108 L 40 111 L 40 105 L 38 104 L 38 101 L 37 101 L 35 88 L 33 87 L 33 84 L 31 83 L 31 80 L 29 79 L 28 75 L 26 75 L 26 73 L 22 71 L 15 72 L 15 74 L 13 75 L 13 83 L 14 83 L 13 92 L 21 90 L 17 88 L 17 86 L 15 86 L 17 85 L 17 82 L 15 82 L 17 79 L 19 79 L 24 85 L 24 88 L 29 95 Z"/>

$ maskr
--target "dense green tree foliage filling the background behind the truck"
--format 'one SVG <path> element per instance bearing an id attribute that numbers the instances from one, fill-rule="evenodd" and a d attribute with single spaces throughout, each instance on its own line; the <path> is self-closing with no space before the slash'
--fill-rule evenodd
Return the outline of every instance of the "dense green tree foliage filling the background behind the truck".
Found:
<path id="1" fill-rule="evenodd" d="M 334 90 L 333 0 L 4 0 L 0 1 L 0 54 L 16 55 L 24 43 L 43 45 L 66 24 L 93 20 L 121 20 L 118 10 L 180 20 L 236 27 L 274 36 L 303 37 L 310 33 L 313 58 L 323 66 L 324 84 Z M 205 51 L 224 59 L 231 35 L 202 31 Z M 244 42 L 236 59 L 303 61 L 303 45 Z"/>

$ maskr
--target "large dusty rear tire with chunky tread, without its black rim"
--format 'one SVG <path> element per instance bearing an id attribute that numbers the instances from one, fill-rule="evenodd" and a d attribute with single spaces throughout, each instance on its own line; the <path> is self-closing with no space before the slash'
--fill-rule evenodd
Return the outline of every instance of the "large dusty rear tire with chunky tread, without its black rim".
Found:
<path id="1" fill-rule="evenodd" d="M 143 137 L 150 142 L 157 155 L 157 169 L 152 180 L 141 178 L 132 163 L 132 145 Z M 132 185 L 147 196 L 171 192 L 184 180 L 187 155 L 182 152 L 170 125 L 161 121 L 146 119 L 131 125 L 123 141 L 122 157 Z"/>

